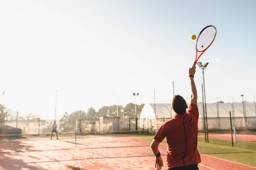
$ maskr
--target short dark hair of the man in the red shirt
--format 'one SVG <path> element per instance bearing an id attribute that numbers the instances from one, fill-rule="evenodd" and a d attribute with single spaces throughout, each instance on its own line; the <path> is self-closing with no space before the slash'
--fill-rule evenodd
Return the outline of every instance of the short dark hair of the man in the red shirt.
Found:
<path id="1" fill-rule="evenodd" d="M 172 99 L 172 109 L 178 114 L 183 115 L 186 113 L 188 105 L 185 99 L 180 95 L 175 95 Z"/>

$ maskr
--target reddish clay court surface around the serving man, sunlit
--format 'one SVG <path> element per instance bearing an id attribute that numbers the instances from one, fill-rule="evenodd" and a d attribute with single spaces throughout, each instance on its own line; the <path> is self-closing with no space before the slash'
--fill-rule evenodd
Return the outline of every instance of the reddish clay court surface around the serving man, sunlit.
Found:
<path id="1" fill-rule="evenodd" d="M 0 169 L 155 169 L 150 141 L 89 135 L 77 139 L 77 147 L 73 142 L 60 137 L 5 143 L 0 145 Z M 166 161 L 166 146 L 160 145 L 159 150 Z M 201 160 L 200 170 L 256 169 L 207 155 L 201 155 Z"/>

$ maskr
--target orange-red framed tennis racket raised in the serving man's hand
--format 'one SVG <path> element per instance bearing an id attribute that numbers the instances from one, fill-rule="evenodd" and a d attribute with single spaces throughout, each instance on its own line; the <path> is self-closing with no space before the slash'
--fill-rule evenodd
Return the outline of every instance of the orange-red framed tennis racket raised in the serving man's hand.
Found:
<path id="1" fill-rule="evenodd" d="M 216 37 L 216 33 L 217 33 L 217 30 L 213 25 L 209 25 L 205 27 L 199 33 L 199 36 L 197 36 L 197 39 L 196 39 L 196 59 L 192 66 L 192 69 L 195 69 L 196 63 L 199 60 L 199 58 L 210 47 L 210 45 L 212 45 L 212 42 Z M 201 53 L 201 54 L 197 57 L 197 53 Z"/>

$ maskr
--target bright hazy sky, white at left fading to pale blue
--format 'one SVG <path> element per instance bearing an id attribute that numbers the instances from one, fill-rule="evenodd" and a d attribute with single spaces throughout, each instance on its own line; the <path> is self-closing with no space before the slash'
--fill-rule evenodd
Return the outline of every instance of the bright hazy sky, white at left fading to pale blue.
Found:
<path id="1" fill-rule="evenodd" d="M 54 119 L 104 105 L 189 99 L 188 69 L 207 25 L 217 37 L 199 61 L 207 103 L 254 101 L 256 1 L 0 1 L 0 103 Z M 195 82 L 201 101 L 202 70 Z M 2 94 L 2 93 L 1 93 Z M 114 95 L 115 94 L 115 95 Z M 230 108 L 231 109 L 231 108 Z"/>

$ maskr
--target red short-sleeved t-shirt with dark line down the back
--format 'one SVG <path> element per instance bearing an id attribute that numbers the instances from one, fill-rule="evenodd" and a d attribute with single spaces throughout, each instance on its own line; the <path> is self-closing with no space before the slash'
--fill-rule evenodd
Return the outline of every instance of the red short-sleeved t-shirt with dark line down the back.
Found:
<path id="1" fill-rule="evenodd" d="M 197 105 L 190 104 L 186 114 L 175 115 L 165 122 L 156 133 L 155 141 L 167 141 L 168 168 L 183 167 L 201 162 L 197 150 L 199 111 Z"/>

